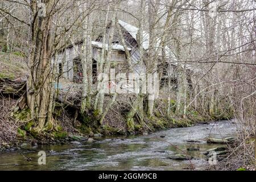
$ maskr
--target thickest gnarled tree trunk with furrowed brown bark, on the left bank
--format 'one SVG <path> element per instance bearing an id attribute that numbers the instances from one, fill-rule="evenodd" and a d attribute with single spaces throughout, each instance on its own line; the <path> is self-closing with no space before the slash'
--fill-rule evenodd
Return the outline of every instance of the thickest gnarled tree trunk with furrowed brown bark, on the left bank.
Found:
<path id="1" fill-rule="evenodd" d="M 46 9 L 44 9 L 44 5 Z M 42 3 L 32 0 L 31 28 L 30 28 L 30 55 L 28 65 L 30 75 L 27 81 L 27 105 L 30 107 L 31 116 L 35 121 L 35 131 L 40 133 L 44 129 L 53 130 L 54 120 L 48 111 L 51 108 L 51 57 L 52 39 L 51 28 L 55 5 L 53 0 L 45 0 Z"/>

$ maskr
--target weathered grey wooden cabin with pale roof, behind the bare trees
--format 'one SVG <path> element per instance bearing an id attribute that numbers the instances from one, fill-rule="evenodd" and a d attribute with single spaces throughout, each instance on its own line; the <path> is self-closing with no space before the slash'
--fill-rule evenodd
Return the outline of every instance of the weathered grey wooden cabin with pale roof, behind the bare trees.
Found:
<path id="1" fill-rule="evenodd" d="M 132 26 L 129 23 L 123 22 L 122 20 L 118 20 L 118 23 L 122 29 L 123 38 L 126 42 L 126 47 L 130 51 L 130 59 L 133 64 L 132 70 L 135 74 L 141 74 L 146 72 L 146 67 L 144 63 L 139 63 L 139 44 L 137 42 L 137 34 L 138 28 Z M 108 30 L 106 32 L 106 42 L 108 42 Z M 145 53 L 148 51 L 149 45 L 149 36 L 147 32 L 143 32 L 143 42 L 142 46 L 144 48 Z M 125 53 L 124 47 L 121 45 L 121 38 L 119 37 L 118 30 L 115 28 L 113 41 L 112 43 L 108 42 L 105 44 L 106 50 L 108 50 L 108 46 L 112 45 L 112 53 L 111 53 L 111 68 L 115 69 L 115 73 L 123 72 L 122 68 L 127 66 L 127 57 Z M 82 68 L 81 68 L 81 46 L 82 42 L 76 43 L 75 45 L 68 46 L 63 50 L 63 52 L 59 53 L 57 56 L 57 71 L 63 73 L 63 77 L 74 82 L 82 81 Z M 93 81 L 97 80 L 98 75 L 98 67 L 99 67 L 99 59 L 101 56 L 103 43 L 102 36 L 98 36 L 95 41 L 92 41 L 92 70 L 93 70 Z M 166 49 L 166 63 L 162 63 L 160 73 L 161 81 L 165 83 L 167 80 L 171 80 L 173 83 L 176 83 L 177 80 L 177 59 L 172 53 L 169 47 L 165 47 Z M 161 56 L 159 55 L 159 59 Z M 162 61 L 161 61 L 162 62 Z M 139 64 L 138 64 L 139 63 Z M 187 66 L 187 73 L 191 72 L 190 67 Z M 191 79 L 188 76 L 188 82 L 191 82 Z"/>

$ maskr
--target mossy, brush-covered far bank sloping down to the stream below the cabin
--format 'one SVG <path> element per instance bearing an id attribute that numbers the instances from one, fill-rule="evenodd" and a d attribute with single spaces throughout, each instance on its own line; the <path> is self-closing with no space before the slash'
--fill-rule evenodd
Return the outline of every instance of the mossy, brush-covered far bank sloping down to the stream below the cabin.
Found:
<path id="1" fill-rule="evenodd" d="M 95 127 L 91 125 L 93 117 L 88 117 L 89 125 L 86 122 L 76 119 L 76 127 L 74 126 L 74 115 L 70 110 L 57 109 L 56 119 L 59 121 L 59 131 L 44 132 L 43 134 L 35 134 L 31 132 L 33 122 L 30 121 L 30 112 L 27 109 L 16 110 L 15 107 L 18 98 L 2 98 L 0 110 L 0 149 L 16 150 L 22 148 L 22 145 L 29 144 L 37 146 L 38 144 L 65 144 L 76 140 L 90 140 L 94 137 L 102 135 L 135 135 L 154 133 L 158 130 L 167 130 L 176 127 L 190 127 L 199 123 L 208 123 L 216 121 L 217 118 L 203 117 L 196 111 L 187 114 L 187 118 L 177 118 L 175 114 L 170 117 L 164 114 L 162 107 L 156 107 L 155 117 L 144 117 L 144 122 L 134 122 L 134 130 L 129 130 L 129 126 L 125 122 L 122 113 L 110 113 L 106 115 L 106 119 L 102 126 Z M 156 102 L 159 104 L 159 102 Z M 120 120 L 117 120 L 120 119 Z M 121 120 L 122 119 L 122 120 Z M 223 119 L 223 116 L 220 118 Z M 73 137 L 72 137 L 73 136 Z M 24 144 L 25 143 L 25 144 Z"/>

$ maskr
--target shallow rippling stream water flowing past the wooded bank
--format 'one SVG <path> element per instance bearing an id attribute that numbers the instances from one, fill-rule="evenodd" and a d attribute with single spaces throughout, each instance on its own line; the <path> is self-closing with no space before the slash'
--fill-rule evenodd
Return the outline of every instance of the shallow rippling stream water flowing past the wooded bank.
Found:
<path id="1" fill-rule="evenodd" d="M 148 135 L 98 137 L 92 143 L 74 142 L 0 152 L 0 170 L 185 170 L 191 166 L 189 160 L 168 158 L 183 154 L 180 150 L 193 156 L 193 167 L 201 170 L 209 166 L 202 152 L 221 146 L 208 144 L 207 138 L 232 137 L 236 129 L 234 121 L 219 121 Z M 187 151 L 187 148 L 198 148 L 198 151 Z M 38 152 L 42 150 L 46 151 L 46 165 L 38 164 Z M 24 156 L 32 160 L 27 161 Z"/>

